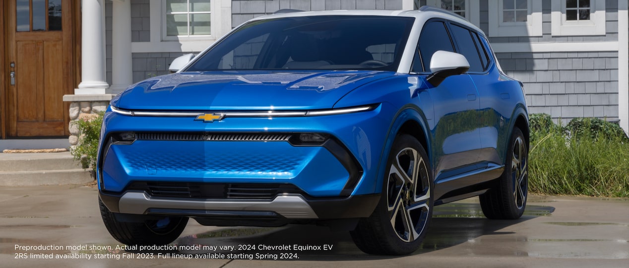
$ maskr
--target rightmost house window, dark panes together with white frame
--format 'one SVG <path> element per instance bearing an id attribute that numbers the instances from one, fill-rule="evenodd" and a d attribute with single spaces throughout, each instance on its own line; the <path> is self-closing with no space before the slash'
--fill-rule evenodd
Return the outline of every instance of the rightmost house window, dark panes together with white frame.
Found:
<path id="1" fill-rule="evenodd" d="M 605 35 L 605 0 L 552 0 L 553 36 Z"/>

